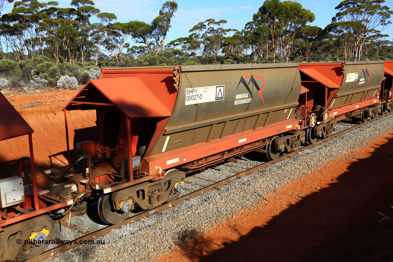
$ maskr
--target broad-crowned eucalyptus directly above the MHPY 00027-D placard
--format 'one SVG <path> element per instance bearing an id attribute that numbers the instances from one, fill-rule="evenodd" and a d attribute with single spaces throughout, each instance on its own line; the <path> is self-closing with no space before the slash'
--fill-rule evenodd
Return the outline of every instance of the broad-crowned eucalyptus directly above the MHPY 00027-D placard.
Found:
<path id="1" fill-rule="evenodd" d="M 203 45 L 204 54 L 219 55 L 224 45 L 225 36 L 231 29 L 225 29 L 227 20 L 216 21 L 212 18 L 196 24 L 189 33 Z"/>

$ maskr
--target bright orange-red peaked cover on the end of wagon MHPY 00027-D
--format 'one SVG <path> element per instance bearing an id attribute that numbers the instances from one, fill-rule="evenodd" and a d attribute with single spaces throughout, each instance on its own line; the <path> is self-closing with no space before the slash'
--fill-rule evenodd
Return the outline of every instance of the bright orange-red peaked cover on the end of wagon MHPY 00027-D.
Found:
<path id="1" fill-rule="evenodd" d="M 139 77 L 90 80 L 64 109 L 90 110 L 97 106 L 116 106 L 128 118 L 171 115 Z"/>

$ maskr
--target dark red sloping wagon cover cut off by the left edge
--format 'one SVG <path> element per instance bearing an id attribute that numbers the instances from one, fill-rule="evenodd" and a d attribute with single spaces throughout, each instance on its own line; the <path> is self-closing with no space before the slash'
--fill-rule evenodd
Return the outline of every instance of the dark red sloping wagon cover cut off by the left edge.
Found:
<path id="1" fill-rule="evenodd" d="M 33 133 L 33 129 L 23 119 L 7 98 L 0 93 L 0 141 Z"/>

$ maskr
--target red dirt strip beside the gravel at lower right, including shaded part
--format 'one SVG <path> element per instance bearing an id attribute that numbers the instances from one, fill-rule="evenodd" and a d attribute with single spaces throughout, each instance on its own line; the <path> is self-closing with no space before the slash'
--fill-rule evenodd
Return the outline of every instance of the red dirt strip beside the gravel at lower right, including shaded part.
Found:
<path id="1" fill-rule="evenodd" d="M 392 149 L 388 133 L 159 261 L 392 261 Z"/>

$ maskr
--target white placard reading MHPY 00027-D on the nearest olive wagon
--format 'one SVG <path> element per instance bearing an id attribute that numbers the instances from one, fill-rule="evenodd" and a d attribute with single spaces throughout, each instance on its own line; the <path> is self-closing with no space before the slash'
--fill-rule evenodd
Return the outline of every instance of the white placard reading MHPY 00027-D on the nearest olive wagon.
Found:
<path id="1" fill-rule="evenodd" d="M 185 89 L 185 105 L 224 100 L 224 85 Z"/>

